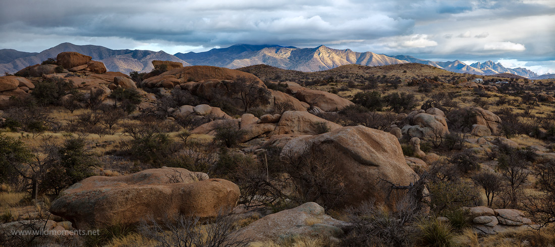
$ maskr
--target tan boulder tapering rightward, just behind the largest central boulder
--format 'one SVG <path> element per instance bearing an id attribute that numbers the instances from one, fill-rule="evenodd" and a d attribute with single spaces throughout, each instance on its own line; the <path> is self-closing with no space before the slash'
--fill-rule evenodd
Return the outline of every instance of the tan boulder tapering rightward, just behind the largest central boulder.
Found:
<path id="1" fill-rule="evenodd" d="M 341 125 L 316 117 L 309 112 L 287 111 L 281 115 L 273 134 L 316 135 L 325 129 L 334 130 Z"/>

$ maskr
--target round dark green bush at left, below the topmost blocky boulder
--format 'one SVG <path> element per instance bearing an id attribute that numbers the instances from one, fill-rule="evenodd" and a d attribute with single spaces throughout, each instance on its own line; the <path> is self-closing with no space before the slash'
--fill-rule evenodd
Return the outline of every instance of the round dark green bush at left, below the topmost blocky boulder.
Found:
<path id="1" fill-rule="evenodd" d="M 59 77 L 44 79 L 34 84 L 35 88 L 31 95 L 42 106 L 58 104 L 59 99 L 68 94 L 72 88 L 71 82 Z"/>

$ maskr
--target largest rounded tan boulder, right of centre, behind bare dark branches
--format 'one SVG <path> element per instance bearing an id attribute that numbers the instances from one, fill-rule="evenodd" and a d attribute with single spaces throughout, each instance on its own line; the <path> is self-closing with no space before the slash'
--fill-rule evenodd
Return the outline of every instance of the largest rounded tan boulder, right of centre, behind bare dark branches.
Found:
<path id="1" fill-rule="evenodd" d="M 346 195 L 337 205 L 355 206 L 368 200 L 393 205 L 395 198 L 390 196 L 387 183 L 383 181 L 407 186 L 417 179 L 395 136 L 362 125 L 296 137 L 285 145 L 281 155 L 295 160 L 305 155 L 306 150 L 326 154 L 334 173 L 344 180 Z M 302 188 L 302 182 L 297 183 L 301 183 Z"/>

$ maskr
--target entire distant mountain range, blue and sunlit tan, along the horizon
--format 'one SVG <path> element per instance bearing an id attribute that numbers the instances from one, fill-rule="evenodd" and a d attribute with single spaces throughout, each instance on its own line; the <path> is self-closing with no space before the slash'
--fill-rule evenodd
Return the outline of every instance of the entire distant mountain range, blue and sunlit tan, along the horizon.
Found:
<path id="1" fill-rule="evenodd" d="M 267 64 L 277 68 L 303 72 L 326 70 L 346 64 L 381 66 L 400 63 L 421 63 L 456 73 L 478 75 L 511 73 L 527 78 L 538 77 L 531 70 L 525 68 L 506 68 L 501 63 L 494 63 L 492 61 L 468 65 L 458 60 L 436 62 L 411 56 L 387 56 L 372 52 L 354 52 L 350 49 L 332 49 L 326 46 L 297 48 L 292 46 L 250 44 L 237 44 L 228 48 L 214 48 L 206 52 L 176 53 L 174 55 L 164 51 L 112 50 L 102 46 L 77 46 L 71 43 L 62 43 L 40 53 L 0 49 L 0 72 L 14 73 L 29 65 L 41 63 L 48 58 L 56 57 L 61 52 L 79 52 L 85 54 L 92 57 L 95 61 L 103 62 L 109 71 L 119 71 L 122 73 L 132 71 L 150 72 L 153 69 L 151 61 L 162 60 L 180 62 L 184 66 L 212 65 L 231 69 L 256 64 Z"/>

